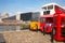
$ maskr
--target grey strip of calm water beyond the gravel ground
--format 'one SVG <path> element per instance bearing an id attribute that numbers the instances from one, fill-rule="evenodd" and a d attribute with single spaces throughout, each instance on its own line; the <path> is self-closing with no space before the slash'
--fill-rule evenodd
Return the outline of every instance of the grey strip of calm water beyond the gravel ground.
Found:
<path id="1" fill-rule="evenodd" d="M 0 31 L 21 30 L 22 26 L 0 26 Z"/>

